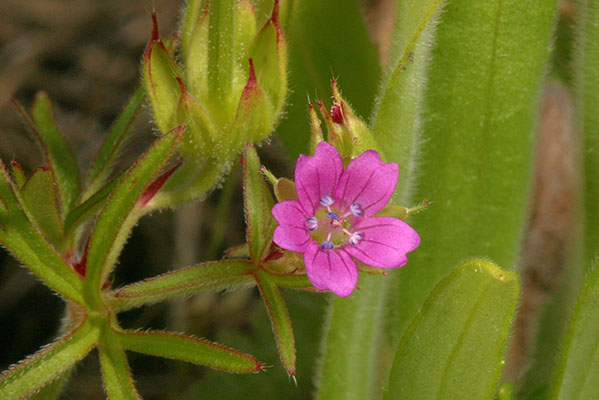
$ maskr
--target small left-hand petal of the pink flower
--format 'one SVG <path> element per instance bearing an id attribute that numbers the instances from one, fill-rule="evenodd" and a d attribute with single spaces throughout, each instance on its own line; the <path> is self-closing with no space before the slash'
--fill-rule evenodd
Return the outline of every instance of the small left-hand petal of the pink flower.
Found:
<path id="1" fill-rule="evenodd" d="M 306 229 L 306 215 L 299 201 L 287 200 L 275 204 L 272 216 L 279 223 L 273 241 L 284 249 L 303 253 L 312 238 Z"/>

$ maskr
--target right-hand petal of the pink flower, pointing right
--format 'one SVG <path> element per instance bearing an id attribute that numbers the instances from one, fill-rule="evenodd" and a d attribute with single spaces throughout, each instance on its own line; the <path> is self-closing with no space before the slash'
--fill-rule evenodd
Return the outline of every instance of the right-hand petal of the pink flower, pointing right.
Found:
<path id="1" fill-rule="evenodd" d="M 353 226 L 362 238 L 343 250 L 364 264 L 378 268 L 401 267 L 408 262 L 406 253 L 420 244 L 420 236 L 412 227 L 392 217 L 362 218 Z"/>

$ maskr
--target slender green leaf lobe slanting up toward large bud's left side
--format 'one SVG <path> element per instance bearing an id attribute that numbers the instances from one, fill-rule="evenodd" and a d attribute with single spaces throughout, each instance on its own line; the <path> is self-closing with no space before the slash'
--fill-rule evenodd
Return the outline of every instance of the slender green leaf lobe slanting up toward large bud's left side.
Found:
<path id="1" fill-rule="evenodd" d="M 127 139 L 131 135 L 133 124 L 137 120 L 139 111 L 144 102 L 146 90 L 140 85 L 112 125 L 108 136 L 104 139 L 98 156 L 94 161 L 88 175 L 83 200 L 87 200 L 93 193 L 96 193 L 104 185 L 105 180 L 110 175 L 114 163 L 117 161 L 121 151 L 127 144 Z"/>

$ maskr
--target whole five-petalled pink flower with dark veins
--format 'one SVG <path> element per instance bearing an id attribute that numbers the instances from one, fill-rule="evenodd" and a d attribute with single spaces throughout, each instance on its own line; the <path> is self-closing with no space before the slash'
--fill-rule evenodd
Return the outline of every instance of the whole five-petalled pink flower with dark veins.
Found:
<path id="1" fill-rule="evenodd" d="M 304 253 L 312 284 L 347 297 L 358 281 L 354 258 L 378 268 L 401 267 L 420 237 L 405 222 L 373 217 L 389 201 L 397 184 L 397 164 L 386 164 L 368 150 L 343 169 L 336 148 L 326 142 L 314 157 L 301 155 L 295 169 L 299 200 L 272 209 L 279 226 L 274 242 Z"/>

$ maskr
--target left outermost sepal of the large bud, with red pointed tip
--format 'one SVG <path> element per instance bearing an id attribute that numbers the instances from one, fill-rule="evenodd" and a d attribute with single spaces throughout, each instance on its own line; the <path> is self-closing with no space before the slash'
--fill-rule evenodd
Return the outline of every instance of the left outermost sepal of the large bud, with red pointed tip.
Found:
<path id="1" fill-rule="evenodd" d="M 158 38 L 156 24 L 154 20 L 152 38 L 144 54 L 143 77 L 154 111 L 154 120 L 160 131 L 166 133 L 177 125 L 176 114 L 181 92 L 176 78 L 181 78 L 181 73 Z"/>

